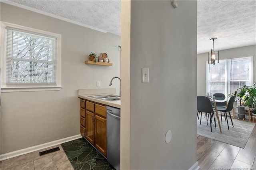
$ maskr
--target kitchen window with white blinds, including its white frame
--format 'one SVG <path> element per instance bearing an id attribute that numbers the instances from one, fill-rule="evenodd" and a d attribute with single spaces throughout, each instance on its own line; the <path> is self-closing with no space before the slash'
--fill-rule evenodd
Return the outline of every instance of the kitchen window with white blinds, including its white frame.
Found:
<path id="1" fill-rule="evenodd" d="M 2 88 L 60 89 L 60 35 L 2 22 Z"/>

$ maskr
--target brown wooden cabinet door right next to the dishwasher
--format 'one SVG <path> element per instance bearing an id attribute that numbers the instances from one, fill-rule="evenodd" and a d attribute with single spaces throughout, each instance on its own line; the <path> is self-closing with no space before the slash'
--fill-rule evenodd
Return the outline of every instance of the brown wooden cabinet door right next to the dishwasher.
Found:
<path id="1" fill-rule="evenodd" d="M 95 115 L 95 147 L 107 156 L 107 119 Z"/>

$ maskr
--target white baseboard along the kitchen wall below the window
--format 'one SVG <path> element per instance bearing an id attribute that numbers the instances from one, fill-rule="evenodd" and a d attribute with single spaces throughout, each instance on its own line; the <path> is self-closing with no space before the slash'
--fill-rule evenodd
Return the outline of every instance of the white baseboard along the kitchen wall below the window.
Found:
<path id="1" fill-rule="evenodd" d="M 59 140 L 54 140 L 52 142 L 47 142 L 47 143 L 39 144 L 39 145 L 36 145 L 36 146 L 31 146 L 29 148 L 16 150 L 16 151 L 9 152 L 9 153 L 6 153 L 6 154 L 1 154 L 0 155 L 0 160 L 2 161 L 2 160 L 6 160 L 6 159 L 9 159 L 9 158 L 16 157 L 16 156 L 20 156 L 20 155 L 23 155 L 23 154 L 27 154 L 27 153 L 30 153 L 30 152 L 34 152 L 34 151 L 37 151 L 37 150 L 41 150 L 41 149 L 44 149 L 44 148 L 49 148 L 49 147 L 52 147 L 52 146 L 55 146 L 55 145 L 58 145 L 58 144 L 62 144 L 62 143 L 65 143 L 65 142 L 69 142 L 71 140 L 75 140 L 75 139 L 78 139 L 78 138 L 82 138 L 81 134 L 77 134 L 77 135 L 70 136 L 70 137 L 63 138 L 63 139 L 59 139 Z"/>

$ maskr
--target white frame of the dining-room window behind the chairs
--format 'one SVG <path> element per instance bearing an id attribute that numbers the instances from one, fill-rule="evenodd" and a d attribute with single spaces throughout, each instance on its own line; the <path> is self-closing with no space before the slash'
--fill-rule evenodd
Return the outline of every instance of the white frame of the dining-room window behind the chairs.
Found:
<path id="1" fill-rule="evenodd" d="M 232 59 L 242 59 L 242 58 L 248 58 L 250 59 L 250 80 L 251 82 L 249 82 L 251 85 L 254 83 L 254 56 L 253 55 L 248 55 L 248 56 L 243 56 L 243 57 L 233 57 L 233 58 L 227 58 L 227 59 L 221 59 L 221 60 L 225 60 L 225 96 L 228 97 L 228 94 L 230 94 L 230 63 L 232 62 Z M 221 61 L 220 60 L 220 61 Z M 206 93 L 209 92 L 209 88 L 210 88 L 210 80 L 209 80 L 209 65 L 208 65 L 208 61 L 206 61 Z"/>

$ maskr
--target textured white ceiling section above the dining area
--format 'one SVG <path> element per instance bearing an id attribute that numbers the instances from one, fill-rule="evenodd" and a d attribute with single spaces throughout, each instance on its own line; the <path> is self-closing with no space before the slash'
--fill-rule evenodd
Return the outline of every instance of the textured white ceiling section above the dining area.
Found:
<path id="1" fill-rule="evenodd" d="M 197 53 L 256 44 L 256 1 L 198 1 Z"/>

